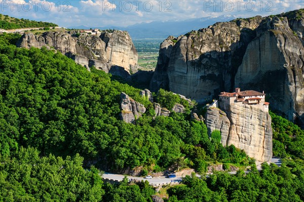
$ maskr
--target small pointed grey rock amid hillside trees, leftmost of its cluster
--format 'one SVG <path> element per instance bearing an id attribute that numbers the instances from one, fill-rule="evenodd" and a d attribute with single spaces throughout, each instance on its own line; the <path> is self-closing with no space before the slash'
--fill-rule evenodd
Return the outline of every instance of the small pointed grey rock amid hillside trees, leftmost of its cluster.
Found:
<path id="1" fill-rule="evenodd" d="M 146 111 L 142 104 L 137 103 L 124 92 L 121 93 L 121 109 L 120 117 L 126 123 L 133 123 Z"/>

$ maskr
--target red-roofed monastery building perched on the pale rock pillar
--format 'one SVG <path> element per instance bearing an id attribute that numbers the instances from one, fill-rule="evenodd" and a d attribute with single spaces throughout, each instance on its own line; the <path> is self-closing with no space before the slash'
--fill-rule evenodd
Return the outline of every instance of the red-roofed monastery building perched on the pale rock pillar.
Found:
<path id="1" fill-rule="evenodd" d="M 250 105 L 260 108 L 264 112 L 269 111 L 269 103 L 265 102 L 265 93 L 255 90 L 241 91 L 236 88 L 235 92 L 221 92 L 219 95 L 220 108 L 229 109 L 231 104 Z"/>

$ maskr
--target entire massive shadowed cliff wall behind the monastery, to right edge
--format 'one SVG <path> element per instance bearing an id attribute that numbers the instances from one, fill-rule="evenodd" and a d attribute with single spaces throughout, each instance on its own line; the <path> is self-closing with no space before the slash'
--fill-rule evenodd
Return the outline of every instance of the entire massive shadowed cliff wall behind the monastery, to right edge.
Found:
<path id="1" fill-rule="evenodd" d="M 304 126 L 304 9 L 236 19 L 168 37 L 150 89 L 212 100 L 235 87 L 265 90 L 271 109 Z"/>

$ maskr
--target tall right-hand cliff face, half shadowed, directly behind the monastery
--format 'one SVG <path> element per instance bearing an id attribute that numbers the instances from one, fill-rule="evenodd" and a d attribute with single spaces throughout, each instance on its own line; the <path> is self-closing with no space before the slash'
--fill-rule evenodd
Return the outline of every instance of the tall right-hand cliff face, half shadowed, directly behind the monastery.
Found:
<path id="1" fill-rule="evenodd" d="M 286 17 L 264 19 L 257 33 L 247 46 L 235 85 L 265 90 L 272 109 L 289 120 L 303 121 L 304 48 L 299 37 Z"/>

